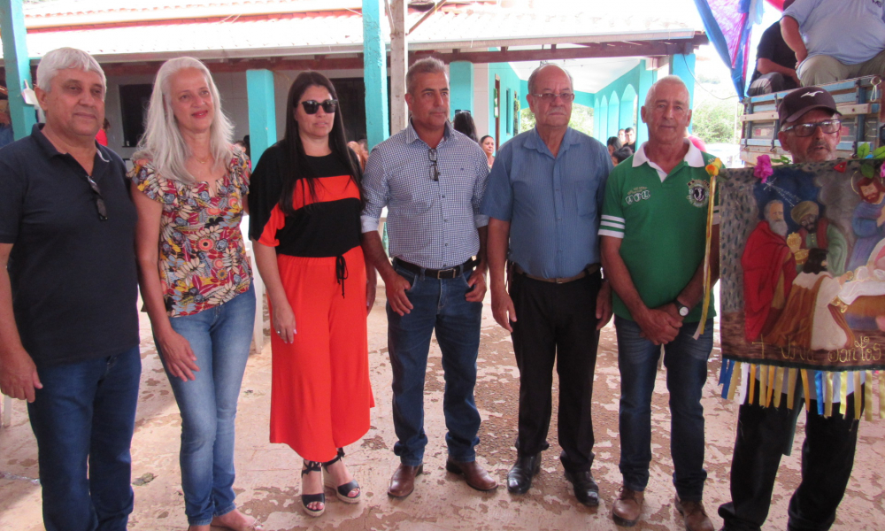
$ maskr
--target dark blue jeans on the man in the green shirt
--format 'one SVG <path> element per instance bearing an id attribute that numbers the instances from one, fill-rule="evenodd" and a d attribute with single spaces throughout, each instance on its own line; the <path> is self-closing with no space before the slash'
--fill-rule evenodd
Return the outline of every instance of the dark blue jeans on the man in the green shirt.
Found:
<path id="1" fill-rule="evenodd" d="M 620 369 L 620 473 L 624 486 L 645 490 L 651 462 L 651 394 L 655 389 L 660 346 L 640 337 L 635 321 L 616 317 Z M 713 320 L 704 335 L 692 339 L 697 323 L 683 323 L 679 335 L 664 346 L 666 388 L 670 392 L 670 455 L 673 485 L 685 501 L 704 496 L 704 407 L 707 358 L 713 347 Z"/>

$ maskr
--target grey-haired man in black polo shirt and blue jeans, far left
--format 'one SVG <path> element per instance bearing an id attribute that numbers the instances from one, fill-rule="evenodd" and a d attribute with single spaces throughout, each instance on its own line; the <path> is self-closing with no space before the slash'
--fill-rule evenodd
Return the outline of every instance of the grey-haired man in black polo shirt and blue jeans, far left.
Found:
<path id="1" fill-rule="evenodd" d="M 50 51 L 46 124 L 0 150 L 0 390 L 27 399 L 48 531 L 125 530 L 133 506 L 135 208 L 95 141 L 105 88 L 89 54 Z"/>

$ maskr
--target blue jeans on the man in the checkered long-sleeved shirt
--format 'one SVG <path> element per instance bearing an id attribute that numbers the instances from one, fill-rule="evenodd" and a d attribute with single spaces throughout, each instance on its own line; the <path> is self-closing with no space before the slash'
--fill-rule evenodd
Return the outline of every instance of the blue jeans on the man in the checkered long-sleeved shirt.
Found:
<path id="1" fill-rule="evenodd" d="M 393 368 L 393 424 L 398 441 L 394 453 L 404 465 L 418 466 L 424 460 L 424 375 L 430 336 L 443 351 L 445 393 L 443 414 L 449 456 L 473 461 L 473 448 L 480 443 L 480 413 L 473 402 L 476 384 L 476 355 L 480 348 L 482 303 L 468 303 L 467 279 L 472 271 L 454 279 L 437 280 L 394 266 L 396 273 L 412 283 L 406 294 L 414 308 L 400 316 L 387 306 L 388 347 Z"/>

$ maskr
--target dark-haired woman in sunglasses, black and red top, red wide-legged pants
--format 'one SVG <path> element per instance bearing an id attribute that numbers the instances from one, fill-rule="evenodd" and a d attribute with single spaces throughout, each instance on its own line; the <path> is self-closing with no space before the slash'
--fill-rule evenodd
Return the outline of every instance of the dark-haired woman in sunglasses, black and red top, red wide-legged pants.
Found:
<path id="1" fill-rule="evenodd" d="M 249 195 L 250 237 L 273 323 L 271 443 L 304 458 L 301 497 L 311 516 L 326 510 L 324 483 L 343 502 L 358 503 L 342 448 L 366 435 L 374 405 L 366 316 L 375 275 L 370 270 L 366 281 L 362 173 L 336 97 L 321 73 L 298 75 L 286 135 L 262 154 Z"/>

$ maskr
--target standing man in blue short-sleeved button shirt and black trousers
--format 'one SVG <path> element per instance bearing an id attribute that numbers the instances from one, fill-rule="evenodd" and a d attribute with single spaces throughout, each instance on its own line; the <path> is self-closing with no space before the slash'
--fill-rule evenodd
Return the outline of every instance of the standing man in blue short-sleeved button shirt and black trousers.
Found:
<path id="1" fill-rule="evenodd" d="M 519 366 L 518 456 L 507 489 L 527 492 L 549 447 L 555 361 L 559 458 L 578 501 L 596 506 L 590 404 L 598 329 L 612 315 L 596 234 L 612 160 L 602 143 L 568 127 L 574 92 L 566 71 L 538 67 L 528 92 L 535 128 L 498 150 L 481 208 L 490 218 L 492 312 L 512 333 Z"/>

